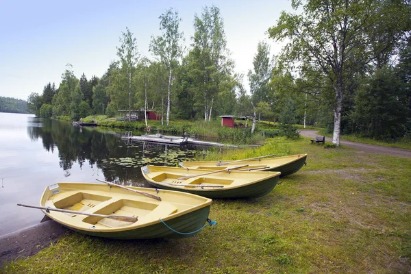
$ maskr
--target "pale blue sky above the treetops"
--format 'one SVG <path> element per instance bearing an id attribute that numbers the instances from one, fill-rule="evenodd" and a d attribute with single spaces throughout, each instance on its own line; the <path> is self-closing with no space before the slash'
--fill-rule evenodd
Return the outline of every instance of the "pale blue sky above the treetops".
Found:
<path id="1" fill-rule="evenodd" d="M 292 11 L 287 0 L 0 0 L 0 96 L 27 100 L 32 92 L 41 95 L 49 82 L 58 87 L 66 64 L 73 65 L 78 78 L 83 73 L 87 79 L 101 77 L 117 60 L 126 27 L 140 54 L 153 60 L 149 42 L 161 34 L 158 17 L 169 8 L 182 18 L 180 29 L 189 48 L 195 14 L 211 5 L 220 9 L 235 73 L 247 75 L 259 41 L 269 43 L 271 54 L 280 52 L 266 31 L 283 10 Z"/>

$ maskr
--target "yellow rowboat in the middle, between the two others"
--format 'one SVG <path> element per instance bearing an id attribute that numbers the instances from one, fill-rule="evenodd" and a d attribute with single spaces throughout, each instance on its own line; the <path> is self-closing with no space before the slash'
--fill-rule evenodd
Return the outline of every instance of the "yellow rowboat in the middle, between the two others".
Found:
<path id="1" fill-rule="evenodd" d="M 245 169 L 245 168 L 244 168 Z M 279 172 L 209 171 L 169 166 L 143 166 L 142 175 L 156 188 L 208 198 L 256 198 L 269 194 Z"/>

